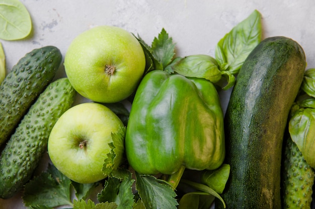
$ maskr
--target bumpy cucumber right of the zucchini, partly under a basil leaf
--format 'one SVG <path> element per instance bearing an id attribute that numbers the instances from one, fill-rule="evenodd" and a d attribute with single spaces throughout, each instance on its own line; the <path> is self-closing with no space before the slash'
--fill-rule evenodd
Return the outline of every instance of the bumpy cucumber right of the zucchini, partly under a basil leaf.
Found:
<path id="1" fill-rule="evenodd" d="M 281 174 L 283 208 L 310 209 L 315 171 L 305 161 L 291 137 L 284 141 L 284 159 Z"/>

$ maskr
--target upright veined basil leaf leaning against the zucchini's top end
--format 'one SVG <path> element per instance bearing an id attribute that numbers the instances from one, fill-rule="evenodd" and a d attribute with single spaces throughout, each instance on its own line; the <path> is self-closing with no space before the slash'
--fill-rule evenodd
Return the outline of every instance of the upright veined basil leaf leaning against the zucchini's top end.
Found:
<path id="1" fill-rule="evenodd" d="M 220 70 L 237 74 L 248 55 L 261 42 L 261 37 L 261 15 L 255 10 L 218 42 L 215 59 Z"/>

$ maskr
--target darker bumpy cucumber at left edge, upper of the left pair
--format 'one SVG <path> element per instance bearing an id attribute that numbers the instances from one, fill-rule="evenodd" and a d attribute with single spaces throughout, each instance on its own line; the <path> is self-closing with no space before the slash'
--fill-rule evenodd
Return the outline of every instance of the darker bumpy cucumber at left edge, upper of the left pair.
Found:
<path id="1" fill-rule="evenodd" d="M 27 53 L 0 85 L 0 146 L 54 78 L 62 55 L 54 46 Z"/>

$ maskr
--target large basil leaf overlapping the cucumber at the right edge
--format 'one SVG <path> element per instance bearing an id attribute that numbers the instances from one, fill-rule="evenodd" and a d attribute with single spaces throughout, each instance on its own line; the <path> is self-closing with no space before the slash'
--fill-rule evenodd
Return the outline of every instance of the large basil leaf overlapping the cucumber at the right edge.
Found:
<path id="1" fill-rule="evenodd" d="M 315 168 L 315 109 L 296 111 L 289 121 L 289 133 L 305 161 Z"/>

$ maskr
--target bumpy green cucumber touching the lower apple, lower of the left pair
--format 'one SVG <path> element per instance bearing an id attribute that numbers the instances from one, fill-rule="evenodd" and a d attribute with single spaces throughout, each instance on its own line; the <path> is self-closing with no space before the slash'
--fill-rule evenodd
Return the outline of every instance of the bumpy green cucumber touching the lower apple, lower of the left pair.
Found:
<path id="1" fill-rule="evenodd" d="M 75 91 L 67 78 L 52 82 L 11 136 L 0 155 L 0 197 L 10 198 L 32 177 L 47 149 L 50 130 L 71 107 Z"/>

